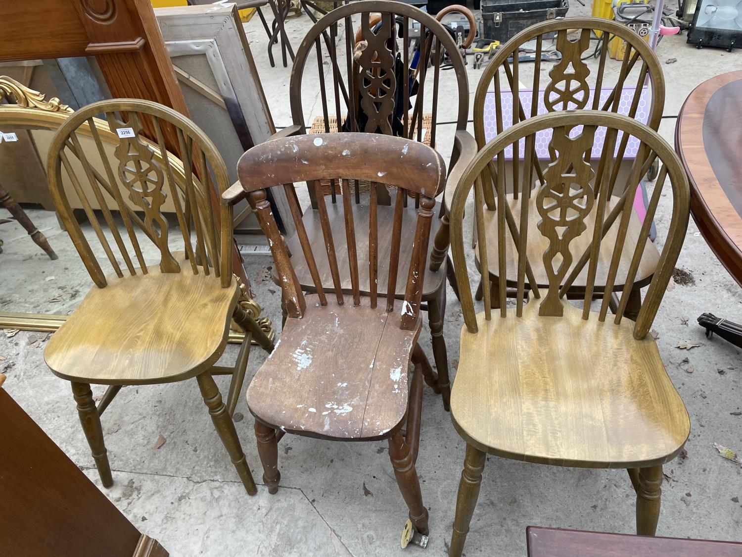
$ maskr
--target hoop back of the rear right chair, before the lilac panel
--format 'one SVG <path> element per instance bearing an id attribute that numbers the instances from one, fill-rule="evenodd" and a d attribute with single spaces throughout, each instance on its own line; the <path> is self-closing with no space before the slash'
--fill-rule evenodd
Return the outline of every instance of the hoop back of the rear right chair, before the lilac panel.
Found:
<path id="1" fill-rule="evenodd" d="M 600 34 L 597 45 L 591 40 L 593 31 Z M 608 45 L 614 41 L 626 41 L 626 53 L 621 62 L 611 63 L 606 58 Z M 520 52 L 526 43 L 531 46 L 528 53 Z M 555 63 L 543 61 L 542 55 L 552 47 L 561 59 Z M 531 53 L 533 48 L 535 52 Z M 535 59 L 519 63 L 525 56 L 535 56 Z M 592 56 L 599 59 L 597 71 L 591 71 L 585 63 L 585 59 Z M 487 143 L 485 114 L 490 125 L 494 118 L 496 134 L 500 134 L 506 124 L 514 125 L 536 116 L 539 105 L 548 112 L 585 108 L 620 112 L 634 118 L 640 108 L 646 108 L 644 103 L 648 101 L 642 99 L 642 91 L 648 77 L 651 88 L 646 123 L 656 131 L 665 105 L 665 79 L 657 55 L 634 30 L 593 17 L 554 19 L 532 25 L 500 48 L 482 73 L 474 97 L 474 137 L 482 149 Z M 520 84 L 526 91 L 530 90 L 530 109 L 524 108 Z M 606 87 L 610 92 L 600 94 Z M 494 94 L 488 96 L 492 91 Z M 508 91 L 512 100 L 511 114 L 503 106 L 503 91 Z M 490 129 L 490 136 L 491 132 Z M 513 156 L 518 158 L 519 146 L 514 149 Z M 626 137 L 619 144 L 620 156 L 623 157 L 625 150 Z M 486 181 L 485 185 L 488 185 Z M 485 188 L 484 193 L 485 199 L 491 202 L 494 195 L 491 189 Z M 513 187 L 513 195 L 518 198 L 516 187 Z"/>

